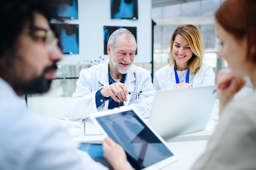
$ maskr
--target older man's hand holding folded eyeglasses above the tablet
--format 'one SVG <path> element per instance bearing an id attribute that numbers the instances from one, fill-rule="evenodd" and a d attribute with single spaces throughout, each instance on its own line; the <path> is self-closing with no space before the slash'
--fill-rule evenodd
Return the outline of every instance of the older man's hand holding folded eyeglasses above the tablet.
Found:
<path id="1" fill-rule="evenodd" d="M 119 102 L 119 100 L 124 102 L 127 101 L 126 95 L 128 95 L 128 89 L 125 84 L 116 82 L 101 89 L 100 93 L 105 98 L 111 96 L 111 98 L 113 98 L 113 100 L 116 102 Z"/>

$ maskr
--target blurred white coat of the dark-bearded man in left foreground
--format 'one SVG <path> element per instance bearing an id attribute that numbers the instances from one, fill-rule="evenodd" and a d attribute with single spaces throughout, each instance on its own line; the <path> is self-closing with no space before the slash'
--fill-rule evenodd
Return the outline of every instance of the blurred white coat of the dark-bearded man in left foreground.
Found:
<path id="1" fill-rule="evenodd" d="M 78 150 L 58 122 L 29 112 L 0 78 L 0 170 L 107 170 Z"/>

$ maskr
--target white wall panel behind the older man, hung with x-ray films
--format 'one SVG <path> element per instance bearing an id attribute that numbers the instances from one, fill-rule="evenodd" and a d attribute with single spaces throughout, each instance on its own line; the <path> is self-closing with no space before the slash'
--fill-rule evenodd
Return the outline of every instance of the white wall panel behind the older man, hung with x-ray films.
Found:
<path id="1" fill-rule="evenodd" d="M 138 0 L 138 20 L 111 19 L 110 0 L 78 0 L 78 13 L 78 20 L 65 22 L 79 24 L 79 55 L 64 55 L 58 65 L 98 64 L 108 60 L 109 56 L 104 55 L 103 26 L 137 27 L 138 54 L 134 63 L 151 62 L 151 0 Z"/>

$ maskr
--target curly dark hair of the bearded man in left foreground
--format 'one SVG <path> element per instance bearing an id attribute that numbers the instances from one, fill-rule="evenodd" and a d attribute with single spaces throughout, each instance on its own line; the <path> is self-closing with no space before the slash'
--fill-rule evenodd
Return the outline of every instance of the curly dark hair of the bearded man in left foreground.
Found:
<path id="1" fill-rule="evenodd" d="M 33 13 L 39 12 L 50 21 L 57 18 L 63 0 L 1 0 L 0 59 L 15 49 L 17 38 L 25 24 L 33 23 Z"/>

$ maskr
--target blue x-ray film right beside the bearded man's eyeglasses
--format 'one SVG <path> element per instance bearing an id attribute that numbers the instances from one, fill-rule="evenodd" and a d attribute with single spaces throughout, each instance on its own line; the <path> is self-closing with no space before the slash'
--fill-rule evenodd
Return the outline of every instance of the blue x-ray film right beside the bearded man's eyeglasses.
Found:
<path id="1" fill-rule="evenodd" d="M 59 38 L 63 54 L 79 54 L 79 25 L 51 23 L 52 29 Z"/>

